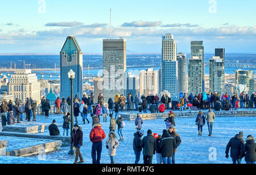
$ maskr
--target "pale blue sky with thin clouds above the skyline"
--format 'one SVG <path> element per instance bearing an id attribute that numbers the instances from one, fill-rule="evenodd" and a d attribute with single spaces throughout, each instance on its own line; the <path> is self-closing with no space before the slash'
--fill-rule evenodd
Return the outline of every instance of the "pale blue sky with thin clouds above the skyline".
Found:
<path id="1" fill-rule="evenodd" d="M 84 54 L 102 54 L 102 39 L 127 41 L 127 53 L 161 53 L 162 33 L 172 33 L 177 52 L 190 41 L 204 52 L 256 53 L 256 1 L 231 0 L 22 0 L 0 1 L 1 53 L 60 52 L 75 36 Z"/>

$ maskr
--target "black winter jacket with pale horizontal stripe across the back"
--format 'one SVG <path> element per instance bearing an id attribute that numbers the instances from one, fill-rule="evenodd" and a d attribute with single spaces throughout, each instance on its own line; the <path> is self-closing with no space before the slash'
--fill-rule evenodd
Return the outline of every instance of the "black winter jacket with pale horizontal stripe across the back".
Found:
<path id="1" fill-rule="evenodd" d="M 175 145 L 176 142 L 174 137 L 168 134 L 167 130 L 164 130 L 162 138 L 160 139 L 159 142 L 159 150 L 162 154 L 162 157 L 173 156 Z"/>

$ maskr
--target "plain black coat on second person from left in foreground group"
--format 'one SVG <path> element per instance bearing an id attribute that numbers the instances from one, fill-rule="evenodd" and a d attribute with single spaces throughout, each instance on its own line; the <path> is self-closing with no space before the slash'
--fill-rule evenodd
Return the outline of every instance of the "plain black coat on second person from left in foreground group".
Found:
<path id="1" fill-rule="evenodd" d="M 154 136 L 152 134 L 144 136 L 141 140 L 141 147 L 143 148 L 144 156 L 153 156 L 156 149 Z"/>

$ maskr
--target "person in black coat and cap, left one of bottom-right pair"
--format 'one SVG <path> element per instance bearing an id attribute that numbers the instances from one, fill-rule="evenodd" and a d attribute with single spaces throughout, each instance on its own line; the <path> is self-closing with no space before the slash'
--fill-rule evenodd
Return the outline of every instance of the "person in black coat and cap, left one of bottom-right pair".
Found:
<path id="1" fill-rule="evenodd" d="M 241 131 L 239 134 L 236 134 L 232 139 L 229 140 L 229 143 L 226 145 L 226 159 L 229 157 L 229 148 L 230 150 L 230 157 L 232 158 L 233 164 L 241 164 L 241 159 L 239 156 L 243 150 L 243 146 L 245 141 L 243 140 L 243 132 Z"/>

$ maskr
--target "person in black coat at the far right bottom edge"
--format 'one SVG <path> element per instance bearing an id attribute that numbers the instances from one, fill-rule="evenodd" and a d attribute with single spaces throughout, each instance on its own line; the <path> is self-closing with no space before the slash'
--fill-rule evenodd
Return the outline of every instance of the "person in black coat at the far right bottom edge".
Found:
<path id="1" fill-rule="evenodd" d="M 239 159 L 245 156 L 246 164 L 255 164 L 256 162 L 256 143 L 252 135 L 248 135 L 245 140 L 245 146 L 243 151 L 240 153 Z"/>

